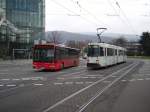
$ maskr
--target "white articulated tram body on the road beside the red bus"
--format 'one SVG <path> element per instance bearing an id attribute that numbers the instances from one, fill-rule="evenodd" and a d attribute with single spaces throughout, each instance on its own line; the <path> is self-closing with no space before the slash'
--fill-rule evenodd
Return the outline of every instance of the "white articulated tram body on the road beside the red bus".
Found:
<path id="1" fill-rule="evenodd" d="M 126 62 L 126 49 L 106 43 L 89 43 L 87 67 L 99 68 Z"/>

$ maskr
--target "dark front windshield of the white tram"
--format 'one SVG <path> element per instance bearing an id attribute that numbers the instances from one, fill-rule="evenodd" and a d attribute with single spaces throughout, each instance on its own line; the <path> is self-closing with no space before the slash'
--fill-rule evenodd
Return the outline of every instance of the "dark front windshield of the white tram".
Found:
<path id="1" fill-rule="evenodd" d="M 88 46 L 88 56 L 91 56 L 91 57 L 99 56 L 99 46 L 89 45 Z"/>

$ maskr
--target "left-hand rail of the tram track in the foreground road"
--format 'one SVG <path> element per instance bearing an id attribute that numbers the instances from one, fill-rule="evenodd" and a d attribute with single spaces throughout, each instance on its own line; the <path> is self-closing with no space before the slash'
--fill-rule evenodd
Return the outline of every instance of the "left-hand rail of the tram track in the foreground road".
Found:
<path id="1" fill-rule="evenodd" d="M 83 91 L 89 89 L 90 87 L 93 87 L 94 85 L 96 85 L 96 84 L 98 84 L 98 83 L 104 81 L 105 79 L 111 77 L 112 75 L 115 75 L 115 74 L 117 74 L 117 73 L 119 73 L 119 72 L 121 72 L 121 71 L 123 71 L 123 70 L 125 70 L 125 69 L 127 69 L 127 68 L 130 68 L 130 67 L 133 66 L 133 65 L 136 65 L 136 64 L 134 64 L 134 63 L 133 63 L 133 64 L 130 64 L 130 65 L 128 65 L 127 67 L 124 67 L 124 68 L 122 68 L 122 69 L 120 69 L 120 70 L 118 70 L 118 71 L 116 71 L 116 72 L 113 72 L 113 73 L 111 73 L 110 75 L 104 77 L 103 79 L 100 79 L 100 80 L 98 80 L 98 81 L 96 81 L 96 82 L 94 82 L 94 83 L 92 83 L 92 84 L 86 86 L 85 88 L 82 88 L 82 89 L 80 89 L 79 91 L 76 91 L 75 93 L 69 95 L 68 97 L 65 97 L 64 99 L 58 101 L 57 103 L 55 103 L 55 104 L 49 106 L 47 109 L 43 110 L 43 112 L 48 112 L 48 111 L 52 110 L 53 108 L 57 107 L 58 105 L 64 103 L 65 101 L 71 99 L 72 97 L 74 97 L 74 96 L 80 94 L 81 92 L 83 92 Z"/>

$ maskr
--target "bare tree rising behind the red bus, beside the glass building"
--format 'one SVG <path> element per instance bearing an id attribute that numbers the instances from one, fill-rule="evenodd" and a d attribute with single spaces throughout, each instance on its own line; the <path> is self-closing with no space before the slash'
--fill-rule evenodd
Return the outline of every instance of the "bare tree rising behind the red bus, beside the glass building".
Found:
<path id="1" fill-rule="evenodd" d="M 61 34 L 58 31 L 52 31 L 50 34 L 48 34 L 49 42 L 60 44 L 62 42 Z"/>

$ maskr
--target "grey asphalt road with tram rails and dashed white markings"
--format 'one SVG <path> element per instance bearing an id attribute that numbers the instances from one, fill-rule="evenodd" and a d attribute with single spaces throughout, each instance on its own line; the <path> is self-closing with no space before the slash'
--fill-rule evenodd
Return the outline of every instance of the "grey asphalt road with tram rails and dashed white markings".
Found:
<path id="1" fill-rule="evenodd" d="M 31 61 L 0 62 L 0 112 L 150 112 L 150 61 L 108 68 L 35 71 Z"/>

